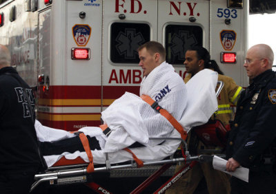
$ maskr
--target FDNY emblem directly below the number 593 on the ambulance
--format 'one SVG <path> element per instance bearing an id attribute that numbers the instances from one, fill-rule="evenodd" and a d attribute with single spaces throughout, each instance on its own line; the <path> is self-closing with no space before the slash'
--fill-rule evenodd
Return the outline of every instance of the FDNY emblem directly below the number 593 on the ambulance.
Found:
<path id="1" fill-rule="evenodd" d="M 232 50 L 237 39 L 237 34 L 234 30 L 222 30 L 220 32 L 221 45 L 224 50 Z"/>

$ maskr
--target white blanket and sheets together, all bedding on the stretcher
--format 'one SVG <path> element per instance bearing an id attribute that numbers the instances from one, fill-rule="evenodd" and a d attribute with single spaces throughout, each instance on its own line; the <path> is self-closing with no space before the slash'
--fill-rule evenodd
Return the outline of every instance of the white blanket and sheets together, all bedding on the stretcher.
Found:
<path id="1" fill-rule="evenodd" d="M 168 67 L 166 69 L 168 76 L 163 76 L 164 79 L 159 81 L 160 78 L 158 79 L 157 76 L 162 77 L 159 74 L 164 73 L 166 75 L 165 72 L 162 72 L 162 68 L 159 68 L 163 65 Z M 174 72 L 174 69 L 166 63 L 163 63 L 162 66 L 160 65 L 152 71 L 155 72 L 155 75 L 152 74 L 153 76 L 150 76 L 150 73 L 147 78 L 144 78 L 141 94 L 148 94 L 157 100 L 159 105 L 167 109 L 172 116 L 179 120 L 186 130 L 207 122 L 208 118 L 217 110 L 217 98 L 215 97 L 217 73 L 208 69 L 199 72 L 197 76 L 190 79 L 187 85 L 188 91 L 186 91 L 184 82 Z M 153 88 L 155 85 L 151 85 L 152 82 L 156 82 L 157 89 Z M 166 87 L 169 90 L 163 90 Z M 169 92 L 165 94 L 165 91 Z M 151 92 L 151 94 L 147 92 Z M 188 95 L 186 95 L 187 93 Z M 187 107 L 186 100 L 188 101 Z M 84 127 L 80 129 L 86 135 L 96 136 L 101 149 L 103 149 L 101 151 L 92 151 L 95 163 L 105 163 L 106 152 L 109 153 L 109 160 L 112 163 L 130 160 L 132 155 L 121 149 L 135 141 L 146 145 L 146 147 L 131 149 L 138 158 L 145 162 L 166 158 L 166 156 L 174 153 L 179 146 L 178 140 L 165 141 L 160 145 L 158 145 L 161 142 L 159 140 L 148 140 L 149 137 L 179 138 L 180 135 L 176 130 L 173 130 L 166 118 L 158 114 L 150 105 L 144 103 L 141 98 L 134 94 L 124 94 L 124 96 L 115 100 L 102 114 L 103 120 L 112 129 L 112 133 L 110 133 L 108 138 L 103 135 L 99 127 Z M 67 131 L 44 127 L 39 122 L 36 122 L 35 127 L 40 141 L 54 141 L 75 136 Z M 81 156 L 83 160 L 88 162 L 86 153 L 80 153 L 79 151 L 63 153 L 62 155 L 51 155 L 44 158 L 48 166 L 52 166 L 63 155 L 70 160 Z"/>

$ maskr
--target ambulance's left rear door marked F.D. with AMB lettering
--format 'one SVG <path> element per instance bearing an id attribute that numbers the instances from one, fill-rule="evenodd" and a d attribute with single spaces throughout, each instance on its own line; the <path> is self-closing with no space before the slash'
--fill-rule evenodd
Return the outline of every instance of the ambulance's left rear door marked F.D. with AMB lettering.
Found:
<path id="1" fill-rule="evenodd" d="M 125 91 L 139 95 L 137 47 L 157 41 L 157 0 L 103 2 L 103 107 Z"/>

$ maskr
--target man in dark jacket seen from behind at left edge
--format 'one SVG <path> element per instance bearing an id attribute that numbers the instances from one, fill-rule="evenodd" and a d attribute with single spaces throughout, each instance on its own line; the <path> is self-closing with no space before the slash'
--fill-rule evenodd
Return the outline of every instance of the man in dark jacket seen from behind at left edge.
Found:
<path id="1" fill-rule="evenodd" d="M 40 159 L 32 120 L 33 107 L 32 90 L 10 67 L 10 52 L 0 45 L 1 194 L 29 193 L 37 173 Z"/>

